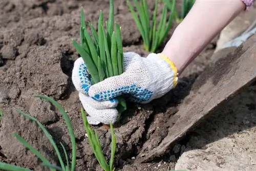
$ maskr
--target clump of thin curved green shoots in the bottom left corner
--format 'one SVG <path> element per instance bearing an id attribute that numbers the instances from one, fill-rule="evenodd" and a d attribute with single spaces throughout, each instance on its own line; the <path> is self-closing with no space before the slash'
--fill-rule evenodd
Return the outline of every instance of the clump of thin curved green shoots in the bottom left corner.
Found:
<path id="1" fill-rule="evenodd" d="M 67 124 L 68 127 L 68 131 L 70 134 L 70 138 L 71 138 L 71 143 L 72 143 L 72 162 L 70 165 L 70 161 L 68 159 L 68 153 L 65 150 L 64 145 L 60 142 L 61 148 L 65 154 L 65 158 L 66 158 L 66 164 L 64 163 L 64 161 L 61 158 L 60 152 L 57 148 L 56 143 L 54 142 L 52 136 L 49 134 L 49 132 L 47 131 L 47 129 L 39 122 L 39 120 L 37 120 L 36 118 L 24 113 L 23 111 L 17 110 L 22 116 L 29 118 L 32 121 L 35 121 L 35 123 L 39 126 L 39 128 L 45 133 L 45 135 L 47 136 L 47 138 L 49 139 L 49 141 L 51 142 L 51 144 L 53 145 L 53 148 L 57 154 L 60 166 L 55 166 L 52 165 L 50 163 L 50 161 L 43 155 L 40 154 L 40 152 L 38 150 L 36 150 L 33 146 L 31 146 L 28 141 L 26 141 L 24 138 L 22 138 L 20 135 L 18 135 L 17 133 L 14 133 L 13 135 L 17 138 L 18 141 L 22 142 L 26 148 L 28 150 L 30 150 L 32 153 L 34 153 L 38 159 L 41 160 L 42 165 L 49 167 L 51 171 L 75 171 L 75 165 L 76 165 L 76 142 L 75 142 L 75 134 L 74 131 L 72 129 L 72 125 L 71 125 L 71 120 L 69 118 L 69 116 L 67 115 L 67 113 L 65 112 L 65 110 L 53 99 L 51 99 L 48 96 L 45 95 L 36 95 L 37 97 L 40 97 L 42 99 L 46 99 L 47 101 L 51 102 L 62 114 L 63 118 L 65 119 L 65 122 Z M 70 167 L 71 166 L 71 167 Z M 32 171 L 29 168 L 25 168 L 25 167 L 19 167 L 16 165 L 12 165 L 12 164 L 8 164 L 8 163 L 4 163 L 4 162 L 0 162 L 0 169 L 2 170 L 11 170 L 11 171 Z"/>

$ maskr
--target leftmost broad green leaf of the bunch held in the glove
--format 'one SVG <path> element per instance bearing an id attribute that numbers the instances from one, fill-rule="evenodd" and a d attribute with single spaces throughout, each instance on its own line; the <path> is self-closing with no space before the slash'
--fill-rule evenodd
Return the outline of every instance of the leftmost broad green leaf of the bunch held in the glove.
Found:
<path id="1" fill-rule="evenodd" d="M 99 76 L 98 76 L 98 70 L 97 70 L 96 65 L 94 64 L 93 60 L 90 58 L 90 55 L 86 51 L 84 51 L 82 46 L 80 44 L 78 44 L 74 39 L 72 39 L 72 44 L 75 46 L 76 51 L 81 55 L 84 63 L 86 64 L 86 66 L 90 72 L 90 75 L 92 76 L 94 83 L 98 83 L 100 80 Z"/>

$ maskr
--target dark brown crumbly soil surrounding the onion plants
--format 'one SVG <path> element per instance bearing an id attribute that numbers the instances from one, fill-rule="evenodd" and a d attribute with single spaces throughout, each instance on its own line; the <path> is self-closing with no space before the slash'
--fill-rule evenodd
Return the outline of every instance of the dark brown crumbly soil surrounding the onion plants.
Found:
<path id="1" fill-rule="evenodd" d="M 124 0 L 116 0 L 115 20 L 122 27 L 124 50 L 142 56 L 140 33 Z M 150 8 L 154 2 L 148 1 Z M 56 154 L 46 136 L 35 123 L 21 117 L 16 109 L 36 117 L 52 134 L 55 141 L 62 142 L 71 152 L 68 130 L 60 113 L 48 102 L 33 97 L 44 93 L 53 97 L 67 110 L 72 119 L 77 142 L 76 170 L 100 170 L 85 136 L 80 114 L 82 107 L 78 93 L 71 82 L 73 63 L 78 54 L 71 38 L 79 38 L 80 7 L 86 20 L 97 25 L 99 10 L 108 18 L 109 0 L 101 1 L 16 1 L 0 2 L 0 107 L 4 116 L 0 125 L 0 161 L 44 170 L 35 155 L 26 150 L 12 135 L 17 132 L 45 155 L 53 164 Z M 169 36 L 177 26 L 170 30 Z M 116 126 L 116 170 L 167 170 L 174 168 L 177 153 L 163 161 L 133 165 L 141 151 L 156 147 L 175 123 L 177 106 L 190 91 L 190 86 L 210 61 L 215 41 L 200 54 L 184 71 L 175 90 L 160 100 L 147 105 L 129 104 L 121 122 Z M 106 156 L 110 154 L 110 132 L 97 128 Z M 59 146 L 60 147 L 60 146 Z M 179 150 L 178 150 L 179 151 Z M 70 154 L 71 156 L 71 154 Z M 45 169 L 46 170 L 46 169 Z"/>

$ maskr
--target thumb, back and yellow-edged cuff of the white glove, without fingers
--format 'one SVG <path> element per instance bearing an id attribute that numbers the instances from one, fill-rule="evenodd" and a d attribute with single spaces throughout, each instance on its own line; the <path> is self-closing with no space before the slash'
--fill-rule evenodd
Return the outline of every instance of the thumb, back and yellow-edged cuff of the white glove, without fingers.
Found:
<path id="1" fill-rule="evenodd" d="M 128 100 L 148 103 L 174 88 L 177 69 L 162 54 L 151 53 L 146 58 L 134 52 L 124 53 L 124 73 L 92 85 L 89 95 L 98 101 L 129 94 Z"/>

